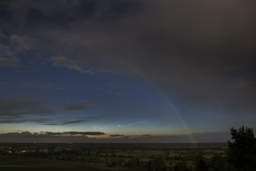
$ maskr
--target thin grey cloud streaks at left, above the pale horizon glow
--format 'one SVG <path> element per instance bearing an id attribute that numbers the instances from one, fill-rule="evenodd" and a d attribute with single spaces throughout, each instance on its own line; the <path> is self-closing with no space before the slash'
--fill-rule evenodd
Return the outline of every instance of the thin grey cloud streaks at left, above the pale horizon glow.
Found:
<path id="1" fill-rule="evenodd" d="M 87 110 L 134 107 L 128 103 L 100 103 L 96 101 L 74 101 L 58 105 L 51 103 L 51 100 L 32 98 L 0 98 L 0 123 L 38 123 L 50 126 L 93 123 L 106 119 L 109 115 L 104 113 L 92 115 L 90 112 L 87 114 Z M 60 112 L 62 113 L 61 117 Z"/>

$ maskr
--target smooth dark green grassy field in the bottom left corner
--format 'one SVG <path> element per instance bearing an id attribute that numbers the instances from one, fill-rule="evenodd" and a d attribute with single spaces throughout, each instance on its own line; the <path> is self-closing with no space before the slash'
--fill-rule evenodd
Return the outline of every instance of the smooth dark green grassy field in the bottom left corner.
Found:
<path id="1" fill-rule="evenodd" d="M 19 171 L 71 171 L 71 170 L 90 170 L 90 171 L 111 171 L 122 170 L 122 168 L 111 168 L 105 165 L 82 163 L 76 161 L 61 161 L 61 160 L 44 160 L 35 158 L 15 158 L 15 157 L 0 157 L 0 170 L 19 170 Z M 123 169 L 124 170 L 124 169 Z"/>

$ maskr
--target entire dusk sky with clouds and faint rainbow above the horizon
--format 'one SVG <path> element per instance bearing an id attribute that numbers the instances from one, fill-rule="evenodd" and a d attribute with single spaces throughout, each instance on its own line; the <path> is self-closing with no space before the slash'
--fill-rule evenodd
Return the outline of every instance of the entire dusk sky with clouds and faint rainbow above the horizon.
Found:
<path id="1" fill-rule="evenodd" d="M 255 8 L 0 1 L 0 142 L 227 142 L 256 128 Z"/>

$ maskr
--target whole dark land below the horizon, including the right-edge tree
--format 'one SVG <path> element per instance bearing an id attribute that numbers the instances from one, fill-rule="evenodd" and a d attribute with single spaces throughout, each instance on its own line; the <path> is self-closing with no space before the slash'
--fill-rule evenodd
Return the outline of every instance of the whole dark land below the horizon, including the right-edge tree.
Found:
<path id="1" fill-rule="evenodd" d="M 193 144 L 1 143 L 1 170 L 236 171 L 255 168 L 253 129 L 230 129 L 232 141 Z"/>

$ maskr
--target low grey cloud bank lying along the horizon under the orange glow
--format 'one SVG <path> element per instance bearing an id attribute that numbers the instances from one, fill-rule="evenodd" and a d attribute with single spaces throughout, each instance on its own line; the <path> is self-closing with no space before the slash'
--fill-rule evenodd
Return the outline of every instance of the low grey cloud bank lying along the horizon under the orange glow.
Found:
<path id="1" fill-rule="evenodd" d="M 93 135 L 99 138 L 89 138 L 87 135 Z M 109 135 L 108 137 L 100 137 L 105 135 L 102 132 L 44 132 L 30 133 L 24 131 L 21 133 L 2 133 L 0 134 L 1 142 L 98 142 L 98 143 L 148 143 L 148 142 L 227 142 L 230 138 L 227 132 L 212 132 L 212 133 L 196 133 L 194 135 L 165 135 L 165 136 L 148 136 L 148 135 L 136 135 L 136 136 L 124 136 L 124 135 Z M 211 136 L 209 136 L 211 135 Z M 193 136 L 193 137 L 191 137 Z M 218 138 L 216 138 L 216 136 Z"/>

